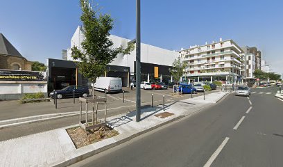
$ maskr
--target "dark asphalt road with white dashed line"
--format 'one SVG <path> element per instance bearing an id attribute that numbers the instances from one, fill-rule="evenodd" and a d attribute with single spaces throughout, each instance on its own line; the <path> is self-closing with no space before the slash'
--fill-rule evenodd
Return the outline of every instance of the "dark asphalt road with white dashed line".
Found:
<path id="1" fill-rule="evenodd" d="M 73 167 L 283 166 L 283 102 L 274 97 L 276 90 L 256 88 L 250 102 L 247 97 L 229 95 L 194 116 L 155 129 Z"/>

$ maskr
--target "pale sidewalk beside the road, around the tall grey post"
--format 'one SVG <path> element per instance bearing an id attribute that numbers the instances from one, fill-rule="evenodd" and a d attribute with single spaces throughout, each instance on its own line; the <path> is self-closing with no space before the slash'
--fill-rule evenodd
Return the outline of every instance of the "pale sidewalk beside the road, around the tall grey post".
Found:
<path id="1" fill-rule="evenodd" d="M 0 142 L 1 166 L 67 166 L 112 148 L 131 138 L 144 134 L 184 116 L 189 116 L 221 100 L 228 93 L 216 92 L 166 104 L 165 111 L 173 116 L 159 118 L 163 106 L 146 108 L 141 111 L 141 121 L 135 122 L 135 112 L 108 118 L 108 124 L 119 132 L 118 136 L 76 149 L 65 128 L 13 138 Z"/>

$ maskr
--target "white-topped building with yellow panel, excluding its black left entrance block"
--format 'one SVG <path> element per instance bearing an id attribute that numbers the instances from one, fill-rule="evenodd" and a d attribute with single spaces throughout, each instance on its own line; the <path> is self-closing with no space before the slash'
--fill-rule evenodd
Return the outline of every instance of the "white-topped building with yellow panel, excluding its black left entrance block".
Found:
<path id="1" fill-rule="evenodd" d="M 83 42 L 84 38 L 83 28 L 78 26 L 71 38 L 71 47 L 77 46 L 82 49 L 80 43 Z M 114 43 L 113 47 L 120 47 L 121 45 L 126 47 L 130 42 L 129 39 L 116 35 L 110 35 L 110 39 Z M 169 68 L 177 57 L 178 52 L 141 43 L 141 81 L 170 81 Z M 74 61 L 71 57 L 70 48 L 67 49 L 67 60 Z M 130 80 L 135 80 L 135 61 L 135 50 L 127 55 L 118 54 L 117 58 L 109 64 L 105 76 L 121 77 L 123 86 L 128 86 Z"/>

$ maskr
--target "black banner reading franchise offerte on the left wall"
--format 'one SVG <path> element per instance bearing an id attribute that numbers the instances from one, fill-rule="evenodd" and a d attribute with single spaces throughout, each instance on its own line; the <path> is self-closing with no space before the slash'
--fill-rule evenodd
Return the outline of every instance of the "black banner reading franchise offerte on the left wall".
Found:
<path id="1" fill-rule="evenodd" d="M 46 72 L 0 70 L 0 81 L 46 81 Z"/>

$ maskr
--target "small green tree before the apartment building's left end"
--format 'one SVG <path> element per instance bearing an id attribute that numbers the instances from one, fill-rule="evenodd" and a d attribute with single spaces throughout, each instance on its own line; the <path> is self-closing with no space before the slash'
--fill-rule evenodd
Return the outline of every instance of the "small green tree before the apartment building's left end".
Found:
<path id="1" fill-rule="evenodd" d="M 172 68 L 169 69 L 169 72 L 171 73 L 175 81 L 180 81 L 180 78 L 182 77 L 182 74 L 186 67 L 187 63 L 183 63 L 180 57 L 176 58 L 173 61 Z"/>

